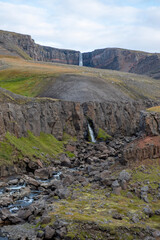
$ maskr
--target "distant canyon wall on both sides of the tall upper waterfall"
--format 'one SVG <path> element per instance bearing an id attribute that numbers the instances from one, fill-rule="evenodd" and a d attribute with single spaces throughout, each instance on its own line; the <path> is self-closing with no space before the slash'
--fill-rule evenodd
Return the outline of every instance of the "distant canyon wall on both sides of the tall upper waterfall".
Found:
<path id="1" fill-rule="evenodd" d="M 36 44 L 29 35 L 0 31 L 0 55 L 15 55 L 36 61 L 79 65 L 79 51 Z M 120 48 L 83 53 L 83 65 L 93 68 L 145 74 L 160 78 L 160 54 Z"/>

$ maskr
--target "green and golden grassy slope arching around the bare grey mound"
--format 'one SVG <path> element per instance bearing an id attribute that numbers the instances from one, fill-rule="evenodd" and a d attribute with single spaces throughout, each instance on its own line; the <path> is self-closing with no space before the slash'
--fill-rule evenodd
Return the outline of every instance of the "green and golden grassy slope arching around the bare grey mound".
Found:
<path id="1" fill-rule="evenodd" d="M 0 71 L 0 87 L 24 96 L 36 97 L 61 74 L 97 77 L 113 84 L 133 99 L 160 99 L 160 81 L 136 74 L 54 63 L 35 63 L 20 58 L 0 57 L 7 69 Z"/>

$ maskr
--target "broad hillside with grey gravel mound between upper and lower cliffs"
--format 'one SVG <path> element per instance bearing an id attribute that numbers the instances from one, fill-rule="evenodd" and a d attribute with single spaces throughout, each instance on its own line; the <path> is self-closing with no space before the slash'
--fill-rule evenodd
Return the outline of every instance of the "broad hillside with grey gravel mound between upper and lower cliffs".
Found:
<path id="1" fill-rule="evenodd" d="M 66 101 L 160 100 L 160 82 L 111 70 L 0 58 L 0 87 L 28 97 Z"/>

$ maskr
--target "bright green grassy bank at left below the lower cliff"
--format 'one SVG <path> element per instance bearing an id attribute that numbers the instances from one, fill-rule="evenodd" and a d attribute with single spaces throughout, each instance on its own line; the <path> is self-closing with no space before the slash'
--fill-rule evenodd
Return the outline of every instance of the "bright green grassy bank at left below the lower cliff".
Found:
<path id="1" fill-rule="evenodd" d="M 73 153 L 65 150 L 64 144 L 66 143 L 66 140 L 58 141 L 53 135 L 45 133 L 34 136 L 28 132 L 27 137 L 21 138 L 7 133 L 4 141 L 0 142 L 0 165 L 12 164 L 13 161 L 23 160 L 24 157 L 33 161 L 41 159 L 46 163 L 49 163 L 52 158 L 57 159 L 61 153 L 74 157 Z"/>

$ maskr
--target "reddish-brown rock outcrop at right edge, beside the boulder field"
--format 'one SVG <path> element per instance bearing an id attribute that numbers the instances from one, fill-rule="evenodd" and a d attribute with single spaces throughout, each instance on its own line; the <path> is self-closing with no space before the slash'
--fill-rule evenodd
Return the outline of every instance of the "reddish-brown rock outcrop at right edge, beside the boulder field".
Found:
<path id="1" fill-rule="evenodd" d="M 142 111 L 139 129 L 142 138 L 129 143 L 123 150 L 126 162 L 160 157 L 160 114 Z"/>

